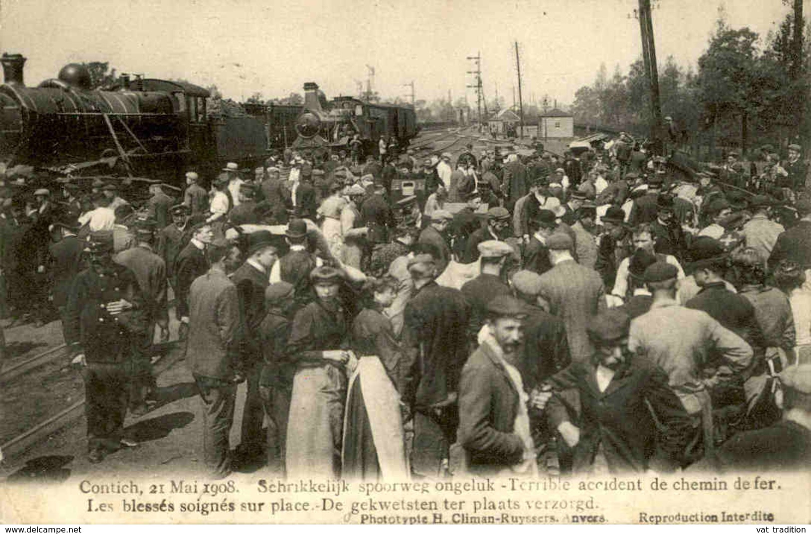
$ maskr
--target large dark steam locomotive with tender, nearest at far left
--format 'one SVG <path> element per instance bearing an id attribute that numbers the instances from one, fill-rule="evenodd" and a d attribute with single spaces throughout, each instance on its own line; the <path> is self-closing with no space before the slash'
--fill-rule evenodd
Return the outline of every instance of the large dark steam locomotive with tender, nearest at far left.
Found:
<path id="1" fill-rule="evenodd" d="M 264 124 L 214 117 L 205 88 L 122 75 L 118 87 L 91 88 L 71 63 L 55 79 L 26 87 L 20 54 L 3 54 L 0 161 L 67 174 L 177 180 L 189 169 L 211 177 L 226 161 L 255 166 L 268 154 Z M 111 170 L 112 169 L 112 170 Z"/>

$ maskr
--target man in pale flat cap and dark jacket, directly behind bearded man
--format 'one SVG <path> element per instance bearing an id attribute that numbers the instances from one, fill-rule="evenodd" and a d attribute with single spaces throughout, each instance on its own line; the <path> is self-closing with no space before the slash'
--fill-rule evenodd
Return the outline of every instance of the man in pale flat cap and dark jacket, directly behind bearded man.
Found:
<path id="1" fill-rule="evenodd" d="M 505 268 L 509 256 L 513 254 L 513 248 L 504 241 L 491 240 L 478 243 L 478 252 L 481 256 L 479 275 L 461 286 L 462 295 L 465 295 L 470 304 L 470 347 L 478 345 L 478 331 L 482 329 L 487 317 L 487 304 L 499 295 L 510 295 L 509 286 L 504 280 Z"/>

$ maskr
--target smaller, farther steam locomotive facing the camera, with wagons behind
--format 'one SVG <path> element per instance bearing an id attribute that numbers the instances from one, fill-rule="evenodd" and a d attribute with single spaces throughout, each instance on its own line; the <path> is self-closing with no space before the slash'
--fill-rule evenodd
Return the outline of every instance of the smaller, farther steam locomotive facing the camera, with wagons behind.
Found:
<path id="1" fill-rule="evenodd" d="M 313 82 L 304 84 L 303 106 L 255 104 L 246 105 L 246 110 L 264 122 L 272 149 L 349 149 L 350 140 L 358 134 L 363 153 L 376 154 L 381 137 L 395 139 L 405 148 L 419 131 L 413 108 L 371 104 L 355 97 L 327 101 Z"/>

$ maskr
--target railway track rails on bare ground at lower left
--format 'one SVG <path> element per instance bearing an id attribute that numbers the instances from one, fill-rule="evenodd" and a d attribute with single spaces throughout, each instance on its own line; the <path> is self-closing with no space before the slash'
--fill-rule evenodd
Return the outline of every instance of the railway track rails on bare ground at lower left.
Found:
<path id="1" fill-rule="evenodd" d="M 180 345 L 178 341 L 158 343 L 157 345 L 152 346 L 152 353 L 157 353 L 160 355 L 160 358 L 154 361 L 152 364 L 152 373 L 154 373 L 156 377 L 180 359 L 182 351 L 179 349 Z M 35 368 L 57 360 L 63 355 L 67 355 L 67 351 L 67 346 L 62 344 L 59 347 L 54 347 L 48 351 L 42 352 L 41 354 L 35 355 L 24 362 L 15 364 L 15 366 L 0 373 L 0 382 L 11 380 L 13 377 L 19 377 Z M 84 398 L 72 403 L 67 408 L 59 411 L 54 416 L 50 416 L 48 419 L 41 421 L 32 428 L 28 428 L 23 433 L 19 433 L 17 436 L 12 437 L 5 443 L 0 444 L 0 449 L 2 449 L 3 454 L 10 458 L 17 454 L 23 453 L 31 446 L 36 445 L 36 443 L 44 441 L 52 433 L 79 419 L 79 417 L 81 417 L 83 414 Z"/>

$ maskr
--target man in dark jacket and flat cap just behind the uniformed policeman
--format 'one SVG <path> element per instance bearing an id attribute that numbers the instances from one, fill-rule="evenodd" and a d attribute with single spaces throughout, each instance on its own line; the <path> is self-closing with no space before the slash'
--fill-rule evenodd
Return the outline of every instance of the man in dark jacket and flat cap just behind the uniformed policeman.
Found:
<path id="1" fill-rule="evenodd" d="M 136 361 L 133 362 L 132 390 L 130 394 L 131 411 L 136 416 L 147 412 L 147 399 L 155 390 L 155 379 L 152 377 L 149 347 L 152 347 L 154 325 L 161 330 L 161 340 L 169 341 L 169 307 L 167 304 L 166 263 L 158 256 L 153 246 L 155 243 L 155 222 L 144 219 L 135 223 L 135 247 L 116 254 L 114 260 L 135 274 L 147 307 L 144 309 L 144 320 L 148 328 L 143 336 L 135 339 L 137 343 Z"/>

